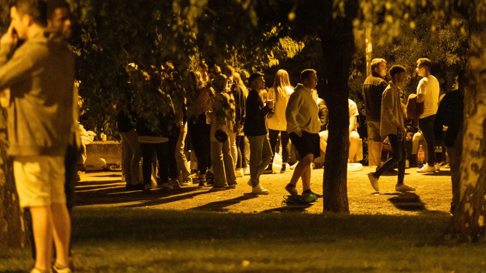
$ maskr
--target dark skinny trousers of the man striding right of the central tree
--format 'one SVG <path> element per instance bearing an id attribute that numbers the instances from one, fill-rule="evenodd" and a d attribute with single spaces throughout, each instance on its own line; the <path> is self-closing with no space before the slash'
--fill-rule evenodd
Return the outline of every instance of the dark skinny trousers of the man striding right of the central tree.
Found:
<path id="1" fill-rule="evenodd" d="M 405 137 L 403 139 L 398 139 L 397 135 L 388 135 L 388 140 L 390 141 L 390 146 L 392 149 L 392 157 L 388 158 L 383 165 L 376 170 L 374 177 L 378 178 L 383 172 L 389 169 L 395 168 L 398 163 L 398 183 L 397 185 L 403 184 L 403 177 L 405 176 L 405 162 L 407 159 L 407 150 L 405 149 Z"/>

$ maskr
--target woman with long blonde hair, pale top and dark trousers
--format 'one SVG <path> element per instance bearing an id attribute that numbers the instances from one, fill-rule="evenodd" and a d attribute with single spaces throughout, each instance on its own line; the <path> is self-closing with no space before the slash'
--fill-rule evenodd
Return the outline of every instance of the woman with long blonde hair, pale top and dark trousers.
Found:
<path id="1" fill-rule="evenodd" d="M 275 100 L 275 110 L 273 115 L 268 118 L 268 137 L 270 139 L 270 147 L 272 147 L 272 161 L 268 165 L 265 172 L 272 172 L 273 159 L 275 157 L 275 150 L 277 146 L 278 134 L 280 134 L 280 142 L 282 144 L 282 169 L 280 172 L 286 171 L 287 160 L 289 159 L 289 135 L 287 134 L 287 120 L 285 119 L 285 108 L 289 102 L 290 94 L 294 92 L 294 87 L 290 84 L 289 73 L 284 69 L 280 69 L 275 74 L 274 84 L 268 90 L 268 100 Z"/>

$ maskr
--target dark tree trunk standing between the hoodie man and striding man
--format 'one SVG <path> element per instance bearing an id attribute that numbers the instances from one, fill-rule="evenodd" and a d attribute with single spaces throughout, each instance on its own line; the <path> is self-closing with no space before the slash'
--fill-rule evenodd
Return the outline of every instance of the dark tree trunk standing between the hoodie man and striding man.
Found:
<path id="1" fill-rule="evenodd" d="M 332 10 L 332 2 L 329 9 Z M 354 52 L 352 18 L 357 1 L 346 4 L 346 17 L 327 18 L 328 27 L 320 34 L 324 51 L 325 76 L 328 80 L 322 92 L 329 109 L 329 137 L 324 162 L 324 211 L 349 213 L 347 201 L 347 157 L 349 150 L 349 90 L 347 78 Z M 322 86 L 322 85 L 321 85 Z"/>

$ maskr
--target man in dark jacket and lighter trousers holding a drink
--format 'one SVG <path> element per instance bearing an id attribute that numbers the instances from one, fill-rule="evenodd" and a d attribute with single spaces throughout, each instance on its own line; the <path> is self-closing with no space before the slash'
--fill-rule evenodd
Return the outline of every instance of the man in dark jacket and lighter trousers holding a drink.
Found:
<path id="1" fill-rule="evenodd" d="M 274 106 L 273 101 L 267 101 L 263 105 L 260 90 L 265 88 L 263 73 L 251 74 L 248 83 L 251 90 L 246 98 L 246 119 L 244 134 L 250 142 L 250 181 L 252 193 L 268 194 L 268 190 L 260 185 L 260 175 L 272 160 L 272 149 L 268 140 L 268 127 L 266 115 Z"/>

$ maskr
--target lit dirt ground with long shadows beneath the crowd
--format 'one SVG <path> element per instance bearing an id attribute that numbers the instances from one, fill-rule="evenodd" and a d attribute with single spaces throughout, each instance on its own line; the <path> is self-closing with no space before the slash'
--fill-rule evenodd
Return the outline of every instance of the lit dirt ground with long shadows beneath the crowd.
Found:
<path id="1" fill-rule="evenodd" d="M 380 193 L 370 185 L 367 173 L 372 167 L 362 171 L 347 173 L 347 193 L 351 214 L 417 215 L 434 213 L 449 215 L 451 202 L 451 172 L 441 169 L 438 173 L 420 174 L 417 168 L 406 169 L 405 184 L 416 187 L 415 192 L 395 191 L 396 175 L 380 178 Z M 169 195 L 161 189 L 153 189 L 151 195 L 141 191 L 127 191 L 121 183 L 121 171 L 88 172 L 81 174 L 76 184 L 76 203 L 79 206 L 94 207 L 134 207 L 168 210 L 210 210 L 232 213 L 289 212 L 305 211 L 321 213 L 322 198 L 312 205 L 285 205 L 284 187 L 290 181 L 293 170 L 286 173 L 263 174 L 260 183 L 270 190 L 269 195 L 251 194 L 246 185 L 249 175 L 238 178 L 236 189 L 209 191 L 209 187 L 194 185 L 172 190 Z M 323 169 L 312 170 L 311 188 L 322 193 Z M 302 184 L 297 184 L 299 193 Z"/>

